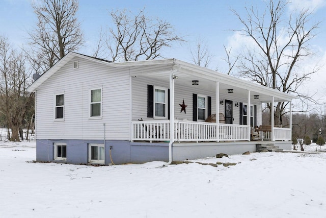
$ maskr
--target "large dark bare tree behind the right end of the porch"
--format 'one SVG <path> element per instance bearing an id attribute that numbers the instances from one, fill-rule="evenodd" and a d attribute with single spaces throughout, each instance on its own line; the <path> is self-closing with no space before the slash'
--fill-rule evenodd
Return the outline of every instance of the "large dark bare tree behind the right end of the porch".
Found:
<path id="1" fill-rule="evenodd" d="M 242 54 L 239 68 L 241 75 L 251 81 L 314 102 L 311 96 L 300 93 L 298 87 L 319 68 L 304 71 L 298 66 L 314 55 L 309 42 L 315 36 L 319 22 L 310 22 L 312 13 L 308 9 L 286 17 L 288 4 L 286 0 L 269 0 L 262 14 L 254 7 L 246 8 L 246 17 L 233 10 L 243 25 L 238 31 L 254 44 Z M 270 105 L 268 107 L 272 111 Z M 282 124 L 285 108 L 286 103 L 276 105 L 276 125 Z"/>

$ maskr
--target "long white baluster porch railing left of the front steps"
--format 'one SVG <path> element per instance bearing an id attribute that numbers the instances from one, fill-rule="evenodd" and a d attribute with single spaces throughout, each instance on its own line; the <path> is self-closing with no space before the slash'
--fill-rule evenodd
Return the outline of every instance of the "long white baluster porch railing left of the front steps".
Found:
<path id="1" fill-rule="evenodd" d="M 248 141 L 250 128 L 243 125 L 175 120 L 176 141 Z M 132 122 L 132 141 L 169 141 L 170 120 Z"/>

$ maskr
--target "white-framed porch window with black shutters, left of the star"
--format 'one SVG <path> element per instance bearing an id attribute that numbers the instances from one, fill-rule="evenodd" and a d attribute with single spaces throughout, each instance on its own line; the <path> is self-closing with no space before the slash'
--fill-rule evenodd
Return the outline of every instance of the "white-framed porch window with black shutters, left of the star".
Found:
<path id="1" fill-rule="evenodd" d="M 154 117 L 167 118 L 167 93 L 166 88 L 154 88 Z"/>

